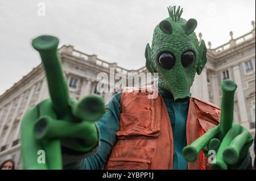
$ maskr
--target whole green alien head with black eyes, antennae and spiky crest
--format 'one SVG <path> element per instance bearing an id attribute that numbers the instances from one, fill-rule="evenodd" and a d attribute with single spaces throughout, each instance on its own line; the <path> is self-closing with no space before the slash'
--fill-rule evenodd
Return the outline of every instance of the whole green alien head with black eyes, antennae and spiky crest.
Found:
<path id="1" fill-rule="evenodd" d="M 195 19 L 180 18 L 180 7 L 169 7 L 168 12 L 170 17 L 155 27 L 152 48 L 146 46 L 146 68 L 151 73 L 158 72 L 159 86 L 179 101 L 189 98 L 195 75 L 201 73 L 207 62 L 207 48 L 204 40 L 199 46 Z"/>

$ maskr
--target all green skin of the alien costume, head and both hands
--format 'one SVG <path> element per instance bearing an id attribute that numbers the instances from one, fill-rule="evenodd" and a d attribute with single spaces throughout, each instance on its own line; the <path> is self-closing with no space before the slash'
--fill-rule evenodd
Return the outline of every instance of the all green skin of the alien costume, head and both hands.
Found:
<path id="1" fill-rule="evenodd" d="M 149 44 L 146 46 L 146 67 L 151 73 L 158 72 L 159 86 L 170 91 L 175 101 L 180 101 L 189 98 L 195 74 L 200 74 L 207 62 L 207 48 L 204 40 L 199 46 L 193 32 L 197 26 L 195 19 L 188 20 L 189 23 L 182 18 L 165 20 L 154 30 L 152 49 Z M 32 107 L 22 119 L 24 169 L 63 169 L 61 145 L 86 152 L 97 146 L 99 139 L 94 121 L 104 114 L 104 101 L 92 95 L 79 102 L 69 98 L 60 58 L 57 57 L 58 43 L 56 37 L 46 35 L 32 41 L 32 47 L 39 51 L 42 58 L 51 99 Z M 187 50 L 195 54 L 195 60 L 183 68 L 180 57 Z M 176 62 L 172 69 L 160 66 L 158 58 L 163 52 L 175 55 Z M 192 162 L 201 150 L 207 154 L 207 150 L 213 149 L 217 151 L 217 156 L 212 169 L 236 169 L 252 144 L 253 137 L 245 128 L 233 123 L 235 83 L 228 81 L 223 84 L 221 124 L 186 146 L 183 156 Z M 38 163 L 38 150 L 46 151 L 46 164 Z"/>

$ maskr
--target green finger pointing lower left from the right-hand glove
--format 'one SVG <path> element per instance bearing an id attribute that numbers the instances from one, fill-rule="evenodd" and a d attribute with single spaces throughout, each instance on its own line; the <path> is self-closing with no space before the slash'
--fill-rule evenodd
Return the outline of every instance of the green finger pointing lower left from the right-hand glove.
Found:
<path id="1" fill-rule="evenodd" d="M 220 127 L 217 125 L 193 141 L 191 145 L 185 146 L 185 148 L 182 150 L 183 157 L 188 162 L 196 161 L 199 152 L 209 144 L 212 138 L 216 137 L 219 131 Z"/>

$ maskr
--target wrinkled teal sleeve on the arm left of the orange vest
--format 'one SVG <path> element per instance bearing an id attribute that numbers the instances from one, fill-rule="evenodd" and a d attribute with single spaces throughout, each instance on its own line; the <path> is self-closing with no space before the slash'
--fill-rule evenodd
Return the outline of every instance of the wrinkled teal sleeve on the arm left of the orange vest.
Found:
<path id="1" fill-rule="evenodd" d="M 117 141 L 116 133 L 119 131 L 119 116 L 121 92 L 115 94 L 106 107 L 106 112 L 100 120 L 96 122 L 100 141 L 94 154 L 84 154 L 79 160 L 74 160 L 64 166 L 64 169 L 97 170 L 103 169 L 109 158 L 110 152 Z M 86 157 L 86 155 L 90 155 Z M 85 158 L 86 157 L 86 158 Z M 78 157 L 77 157 L 78 158 Z M 66 158 L 67 159 L 67 158 Z"/>

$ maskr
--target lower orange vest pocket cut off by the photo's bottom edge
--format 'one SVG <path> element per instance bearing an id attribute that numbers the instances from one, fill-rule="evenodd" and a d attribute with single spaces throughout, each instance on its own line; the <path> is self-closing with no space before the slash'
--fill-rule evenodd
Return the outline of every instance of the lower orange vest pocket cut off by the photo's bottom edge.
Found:
<path id="1" fill-rule="evenodd" d="M 114 146 L 106 165 L 108 170 L 148 170 L 153 148 L 142 146 Z"/>

